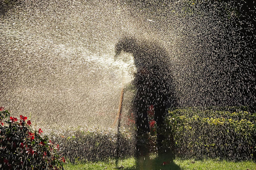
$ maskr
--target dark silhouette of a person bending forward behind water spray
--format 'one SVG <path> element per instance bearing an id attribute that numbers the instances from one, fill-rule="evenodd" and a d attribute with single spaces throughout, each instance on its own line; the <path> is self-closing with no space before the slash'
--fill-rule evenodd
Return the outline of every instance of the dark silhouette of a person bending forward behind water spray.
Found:
<path id="1" fill-rule="evenodd" d="M 161 147 L 164 137 L 159 129 L 163 127 L 168 108 L 176 107 L 177 103 L 168 53 L 155 42 L 140 41 L 128 36 L 119 38 L 115 44 L 115 58 L 121 52 L 130 53 L 137 68 L 134 78 L 137 93 L 132 107 L 136 116 L 137 134 L 150 131 L 147 111 L 153 105 L 154 120 L 157 123 L 157 147 Z"/>

